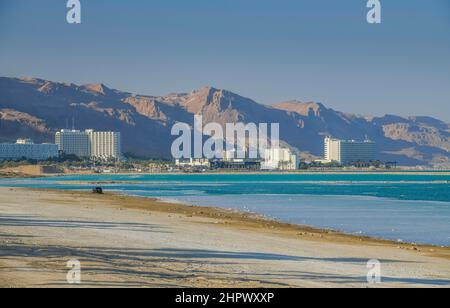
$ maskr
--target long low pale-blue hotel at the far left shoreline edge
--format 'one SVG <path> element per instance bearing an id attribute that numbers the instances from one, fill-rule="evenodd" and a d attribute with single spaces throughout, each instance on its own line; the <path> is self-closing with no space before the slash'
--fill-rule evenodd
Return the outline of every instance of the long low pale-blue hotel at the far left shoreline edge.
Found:
<path id="1" fill-rule="evenodd" d="M 0 144 L 0 160 L 34 159 L 48 160 L 59 156 L 56 144 L 35 144 L 30 139 L 18 139 L 16 143 Z"/>

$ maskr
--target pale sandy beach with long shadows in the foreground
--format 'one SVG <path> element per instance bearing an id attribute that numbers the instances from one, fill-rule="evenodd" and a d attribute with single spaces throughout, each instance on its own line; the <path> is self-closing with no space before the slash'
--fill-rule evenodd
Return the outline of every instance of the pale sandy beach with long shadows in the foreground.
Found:
<path id="1" fill-rule="evenodd" d="M 0 287 L 450 287 L 450 249 L 117 195 L 0 188 Z M 367 261 L 382 283 L 367 283 Z"/>

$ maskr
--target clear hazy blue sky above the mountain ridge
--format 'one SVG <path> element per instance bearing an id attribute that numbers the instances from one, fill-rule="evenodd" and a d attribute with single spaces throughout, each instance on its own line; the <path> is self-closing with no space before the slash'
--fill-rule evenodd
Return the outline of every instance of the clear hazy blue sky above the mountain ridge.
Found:
<path id="1" fill-rule="evenodd" d="M 450 122 L 450 1 L 0 1 L 0 75 L 163 95 L 213 85 L 269 104 Z"/>

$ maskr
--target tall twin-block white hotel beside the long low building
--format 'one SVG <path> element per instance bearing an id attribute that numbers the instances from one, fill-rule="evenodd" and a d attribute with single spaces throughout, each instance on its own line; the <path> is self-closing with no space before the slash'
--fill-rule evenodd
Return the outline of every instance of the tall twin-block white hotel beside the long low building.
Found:
<path id="1" fill-rule="evenodd" d="M 92 129 L 61 130 L 56 133 L 59 150 L 68 155 L 102 160 L 122 159 L 122 143 L 119 132 L 96 132 Z"/>

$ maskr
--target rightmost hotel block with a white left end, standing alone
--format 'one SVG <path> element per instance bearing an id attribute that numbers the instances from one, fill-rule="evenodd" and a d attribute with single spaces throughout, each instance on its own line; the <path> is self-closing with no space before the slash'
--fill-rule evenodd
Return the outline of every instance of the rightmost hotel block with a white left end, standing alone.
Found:
<path id="1" fill-rule="evenodd" d="M 375 142 L 325 138 L 325 160 L 342 165 L 375 161 Z"/>

